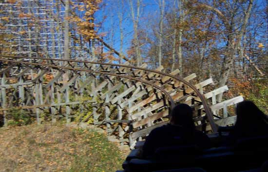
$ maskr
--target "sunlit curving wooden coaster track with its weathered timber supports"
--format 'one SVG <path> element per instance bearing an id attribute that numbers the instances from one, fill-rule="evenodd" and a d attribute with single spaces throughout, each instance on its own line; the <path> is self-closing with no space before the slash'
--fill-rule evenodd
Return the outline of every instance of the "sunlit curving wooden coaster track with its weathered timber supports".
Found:
<path id="1" fill-rule="evenodd" d="M 176 103 L 187 103 L 194 109 L 194 121 L 200 129 L 216 132 L 217 125 L 234 123 L 235 116 L 228 109 L 242 101 L 242 96 L 216 102 L 227 86 L 206 91 L 213 83 L 211 78 L 192 84 L 195 74 L 180 78 L 178 70 L 170 74 L 162 70 L 162 66 L 150 70 L 146 64 L 136 67 L 128 62 L 0 55 L 0 113 L 5 125 L 11 108 L 27 110 L 38 123 L 45 110 L 52 122 L 65 118 L 69 123 L 77 118 L 77 106 L 83 111 L 85 103 L 90 104 L 91 114 L 80 122 L 93 118 L 94 125 L 131 148 L 153 128 L 167 124 Z"/>

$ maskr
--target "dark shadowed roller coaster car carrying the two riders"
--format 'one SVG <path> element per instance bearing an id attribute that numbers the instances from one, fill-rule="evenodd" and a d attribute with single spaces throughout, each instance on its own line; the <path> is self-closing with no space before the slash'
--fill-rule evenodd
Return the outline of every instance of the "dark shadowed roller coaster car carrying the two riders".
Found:
<path id="1" fill-rule="evenodd" d="M 141 159 L 138 152 L 134 149 L 126 158 L 122 165 L 125 172 L 250 172 L 248 170 L 260 168 L 268 160 L 268 135 L 206 150 L 198 150 L 195 145 L 162 147 L 152 159 Z"/>

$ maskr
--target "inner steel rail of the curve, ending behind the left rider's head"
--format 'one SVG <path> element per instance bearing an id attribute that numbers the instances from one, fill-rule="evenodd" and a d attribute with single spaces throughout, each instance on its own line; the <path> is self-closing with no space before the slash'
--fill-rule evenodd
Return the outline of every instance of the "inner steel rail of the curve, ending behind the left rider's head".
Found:
<path id="1" fill-rule="evenodd" d="M 114 74 L 114 73 L 107 73 L 107 72 L 94 71 L 94 70 L 88 70 L 88 69 L 79 69 L 79 68 L 72 68 L 72 67 L 65 67 L 65 66 L 56 66 L 56 65 L 51 65 L 51 64 L 18 62 L 18 61 L 6 60 L 6 59 L 0 59 L 0 61 L 10 62 L 10 63 L 24 63 L 24 64 L 37 65 L 37 66 L 47 66 L 47 67 L 52 67 L 52 68 L 57 68 L 57 69 L 68 69 L 68 70 L 73 70 L 73 71 L 98 73 L 98 74 L 104 74 L 104 75 L 111 75 L 111 76 L 115 76 L 115 77 L 128 78 L 128 79 L 131 79 L 131 80 L 146 83 L 148 85 L 151 85 L 151 86 L 157 88 L 158 90 L 160 90 L 161 92 L 163 92 L 164 94 L 166 94 L 168 96 L 168 98 L 170 99 L 170 102 L 171 102 L 171 107 L 173 108 L 175 106 L 174 100 L 172 99 L 171 95 L 166 90 L 164 90 L 163 88 L 159 87 L 158 85 L 155 85 L 155 84 L 153 84 L 153 83 L 151 83 L 151 82 L 149 82 L 147 80 L 142 80 L 142 79 L 139 79 L 139 78 L 133 78 L 133 77 L 125 76 L 125 75 L 122 76 L 122 75 L 118 75 L 118 74 Z"/>

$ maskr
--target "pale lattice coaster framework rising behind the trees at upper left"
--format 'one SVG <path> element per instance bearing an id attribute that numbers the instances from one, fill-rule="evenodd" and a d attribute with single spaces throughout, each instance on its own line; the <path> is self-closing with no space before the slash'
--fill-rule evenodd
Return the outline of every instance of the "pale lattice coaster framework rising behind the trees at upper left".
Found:
<path id="1" fill-rule="evenodd" d="M 80 2 L 77 2 L 78 4 Z M 82 2 L 81 2 L 82 3 Z M 1 54 L 63 58 L 64 18 L 63 0 L 2 0 L 0 1 L 0 34 L 8 43 L 1 45 Z M 74 16 L 69 12 L 69 16 Z M 75 31 L 77 25 L 68 24 L 68 49 L 74 58 L 88 59 L 92 55 L 92 42 L 84 40 Z M 105 43 L 94 42 L 95 46 Z"/>

